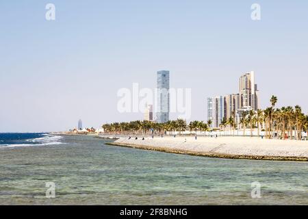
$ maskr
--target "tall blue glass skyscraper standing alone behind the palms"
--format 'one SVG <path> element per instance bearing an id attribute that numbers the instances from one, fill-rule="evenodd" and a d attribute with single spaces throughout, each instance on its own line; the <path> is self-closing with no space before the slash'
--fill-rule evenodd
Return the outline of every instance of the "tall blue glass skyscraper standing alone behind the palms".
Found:
<path id="1" fill-rule="evenodd" d="M 169 120 L 170 95 L 169 95 L 169 71 L 157 72 L 157 123 L 166 123 Z"/>

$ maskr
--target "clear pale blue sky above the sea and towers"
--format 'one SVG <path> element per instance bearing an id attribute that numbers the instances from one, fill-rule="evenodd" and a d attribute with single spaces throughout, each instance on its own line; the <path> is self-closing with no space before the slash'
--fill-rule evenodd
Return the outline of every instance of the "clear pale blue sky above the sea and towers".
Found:
<path id="1" fill-rule="evenodd" d="M 277 107 L 307 114 L 307 39 L 306 0 L 2 0 L 0 132 L 142 119 L 118 112 L 117 92 L 155 88 L 158 70 L 170 70 L 170 87 L 192 89 L 190 120 L 207 120 L 206 98 L 238 92 L 251 70 L 262 108 L 274 94 Z"/>

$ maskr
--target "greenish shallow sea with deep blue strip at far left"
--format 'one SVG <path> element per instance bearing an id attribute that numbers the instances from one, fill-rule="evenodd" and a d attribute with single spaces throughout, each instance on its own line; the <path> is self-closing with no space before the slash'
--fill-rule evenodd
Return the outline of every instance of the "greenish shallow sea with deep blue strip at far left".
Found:
<path id="1" fill-rule="evenodd" d="M 0 134 L 0 205 L 308 205 L 307 162 L 194 157 L 110 141 Z M 49 182 L 55 198 L 46 196 Z M 253 182 L 261 198 L 251 197 Z"/>

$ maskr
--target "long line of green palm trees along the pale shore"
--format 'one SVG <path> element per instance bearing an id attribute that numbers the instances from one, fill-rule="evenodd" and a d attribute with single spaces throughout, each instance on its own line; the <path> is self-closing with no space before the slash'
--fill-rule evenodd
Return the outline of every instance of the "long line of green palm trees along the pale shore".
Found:
<path id="1" fill-rule="evenodd" d="M 229 118 L 222 118 L 220 129 L 242 130 L 246 136 L 246 129 L 250 129 L 251 136 L 253 131 L 257 129 L 257 136 L 264 131 L 265 138 L 281 138 L 302 140 L 302 133 L 308 133 L 308 116 L 303 114 L 300 106 L 275 108 L 277 104 L 277 96 L 270 99 L 271 106 L 266 110 L 249 110 L 244 111 L 240 115 L 237 123 L 235 112 L 231 113 Z M 103 125 L 105 133 L 121 134 L 121 135 L 149 135 L 163 134 L 166 131 L 177 131 L 181 135 L 183 131 L 211 131 L 211 120 L 206 123 L 203 121 L 192 121 L 189 124 L 183 119 L 170 120 L 167 123 L 154 123 L 152 121 L 131 121 L 129 123 L 112 123 Z"/>

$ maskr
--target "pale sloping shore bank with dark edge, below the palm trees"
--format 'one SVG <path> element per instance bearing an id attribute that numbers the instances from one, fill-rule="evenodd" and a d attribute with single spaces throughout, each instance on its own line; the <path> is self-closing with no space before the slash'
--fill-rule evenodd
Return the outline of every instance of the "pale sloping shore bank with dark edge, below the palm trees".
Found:
<path id="1" fill-rule="evenodd" d="M 145 138 L 144 140 L 122 137 L 110 144 L 206 157 L 308 161 L 308 141 L 249 137 L 198 137 L 197 140 L 194 137 Z"/>

